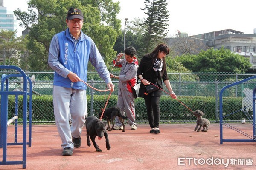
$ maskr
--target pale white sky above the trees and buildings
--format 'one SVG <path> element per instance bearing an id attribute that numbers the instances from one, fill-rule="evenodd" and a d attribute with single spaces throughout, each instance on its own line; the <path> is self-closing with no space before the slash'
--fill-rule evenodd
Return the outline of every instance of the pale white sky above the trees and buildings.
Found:
<path id="1" fill-rule="evenodd" d="M 17 3 L 19 1 L 19 3 Z M 113 0 L 119 1 L 121 11 L 117 17 L 122 21 L 124 29 L 125 18 L 145 18 L 144 0 Z M 4 6 L 14 11 L 20 8 L 27 10 L 27 0 L 4 0 Z M 175 37 L 177 30 L 186 32 L 189 36 L 233 29 L 246 34 L 253 34 L 256 28 L 255 10 L 256 0 L 167 0 L 169 11 L 169 34 Z M 21 35 L 23 28 L 18 28 Z"/>

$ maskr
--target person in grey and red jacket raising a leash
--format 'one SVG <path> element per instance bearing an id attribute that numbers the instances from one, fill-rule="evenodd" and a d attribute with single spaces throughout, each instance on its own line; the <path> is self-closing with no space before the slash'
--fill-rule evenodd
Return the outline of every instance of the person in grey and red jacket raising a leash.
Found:
<path id="1" fill-rule="evenodd" d="M 135 57 L 136 50 L 134 47 L 127 47 L 125 48 L 124 52 L 125 54 L 119 53 L 117 55 L 117 59 L 113 61 L 115 66 L 121 67 L 119 76 L 110 74 L 110 77 L 119 79 L 118 99 L 116 106 L 120 108 L 122 113 L 126 113 L 126 116 L 128 117 L 128 123 L 131 126 L 131 130 L 137 130 L 137 123 L 135 121 L 134 95 L 132 94 L 131 86 L 136 85 L 138 60 Z M 125 58 L 121 59 L 123 55 Z M 114 125 L 113 129 L 123 129 L 123 126 L 118 117 L 116 117 L 115 120 L 116 124 Z"/>

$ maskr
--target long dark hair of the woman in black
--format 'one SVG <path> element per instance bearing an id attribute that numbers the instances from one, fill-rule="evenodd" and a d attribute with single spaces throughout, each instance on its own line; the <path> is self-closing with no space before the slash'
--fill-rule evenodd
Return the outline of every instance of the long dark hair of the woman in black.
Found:
<path id="1" fill-rule="evenodd" d="M 152 58 L 152 61 L 151 61 L 151 66 L 149 67 L 149 69 L 152 68 L 153 64 L 154 64 L 154 61 L 156 60 L 157 58 L 157 55 L 158 53 L 160 52 L 164 52 L 164 54 L 168 55 L 169 52 L 170 52 L 170 49 L 168 48 L 168 46 L 166 44 L 159 44 L 157 45 L 157 47 L 154 49 L 154 51 L 152 51 L 151 53 L 149 53 L 147 56 L 149 58 Z M 163 58 L 163 68 L 162 68 L 162 74 L 163 74 L 163 71 L 166 69 L 166 62 L 165 62 L 165 57 Z"/>

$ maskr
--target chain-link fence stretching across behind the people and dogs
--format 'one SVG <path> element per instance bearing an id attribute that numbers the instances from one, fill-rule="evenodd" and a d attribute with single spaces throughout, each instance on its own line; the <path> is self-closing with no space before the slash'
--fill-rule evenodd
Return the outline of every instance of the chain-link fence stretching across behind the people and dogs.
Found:
<path id="1" fill-rule="evenodd" d="M 25 72 L 28 77 L 35 75 L 32 81 L 32 122 L 45 123 L 54 122 L 52 104 L 52 83 L 53 72 Z M 2 74 L 14 74 L 13 72 L 3 72 Z M 118 75 L 119 73 L 116 73 Z M 233 82 L 253 76 L 254 74 L 208 74 L 208 73 L 172 73 L 169 74 L 172 89 L 177 95 L 177 99 L 190 108 L 192 111 L 199 109 L 205 113 L 204 117 L 212 122 L 218 122 L 219 101 L 218 95 L 221 89 Z M 105 90 L 106 84 L 101 81 L 99 74 L 88 73 L 88 80 L 91 86 L 96 89 Z M 107 108 L 116 106 L 118 81 L 113 81 L 115 91 L 112 92 L 108 101 Z M 15 77 L 9 79 L 9 91 L 22 89 L 22 82 Z M 163 90 L 168 91 L 163 85 Z M 244 118 L 242 108 L 248 113 L 252 112 L 252 89 L 255 88 L 255 80 L 244 82 L 229 88 L 224 92 L 224 114 L 233 114 L 230 121 L 240 121 Z M 109 92 L 99 92 L 92 88 L 87 88 L 87 107 L 88 114 L 95 114 L 104 108 L 108 99 Z M 21 99 L 20 99 L 21 98 Z M 19 96 L 19 100 L 22 96 Z M 192 112 L 178 100 L 172 99 L 163 92 L 160 99 L 160 121 L 161 122 L 195 122 L 196 118 Z M 12 117 L 15 111 L 15 97 L 9 95 L 8 116 Z M 22 103 L 22 102 L 20 102 Z M 18 107 L 22 111 L 22 105 Z M 136 120 L 137 122 L 147 122 L 145 102 L 143 98 L 135 99 Z M 20 113 L 22 114 L 22 113 Z"/>

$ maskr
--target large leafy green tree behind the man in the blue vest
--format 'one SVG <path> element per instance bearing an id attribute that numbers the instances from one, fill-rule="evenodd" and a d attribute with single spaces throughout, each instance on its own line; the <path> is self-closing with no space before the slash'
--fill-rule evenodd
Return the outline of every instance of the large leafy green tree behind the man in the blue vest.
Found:
<path id="1" fill-rule="evenodd" d="M 20 26 L 30 30 L 28 35 L 29 64 L 40 70 L 50 69 L 48 51 L 52 37 L 67 28 L 66 15 L 70 7 L 81 9 L 84 14 L 82 31 L 93 39 L 106 65 L 114 54 L 113 45 L 121 33 L 121 21 L 116 18 L 119 2 L 112 0 L 30 0 L 28 12 L 15 10 Z M 36 10 L 36 12 L 34 11 Z M 32 66 L 32 65 L 31 65 Z M 90 67 L 89 69 L 93 69 Z"/>

